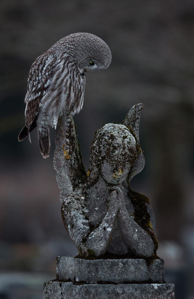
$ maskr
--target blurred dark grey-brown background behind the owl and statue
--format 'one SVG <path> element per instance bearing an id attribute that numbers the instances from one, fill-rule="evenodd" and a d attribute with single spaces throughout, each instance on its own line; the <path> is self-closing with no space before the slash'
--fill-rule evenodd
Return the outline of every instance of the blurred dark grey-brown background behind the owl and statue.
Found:
<path id="1" fill-rule="evenodd" d="M 122 122 L 143 103 L 140 141 L 146 165 L 131 187 L 150 197 L 158 255 L 176 299 L 194 298 L 194 1 L 1 0 L 0 298 L 42 298 L 56 256 L 76 255 L 62 224 L 51 154 L 43 160 L 36 130 L 19 143 L 27 75 L 58 39 L 90 32 L 112 51 L 107 70 L 86 74 L 75 116 L 86 168 L 94 132 Z"/>

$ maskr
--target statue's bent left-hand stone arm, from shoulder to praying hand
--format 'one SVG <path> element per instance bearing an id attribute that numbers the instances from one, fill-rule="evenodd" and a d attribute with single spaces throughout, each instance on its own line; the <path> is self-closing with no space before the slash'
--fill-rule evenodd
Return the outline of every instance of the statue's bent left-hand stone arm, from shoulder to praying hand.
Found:
<path id="1" fill-rule="evenodd" d="M 107 213 L 100 224 L 91 230 L 83 213 L 80 199 L 69 196 L 62 201 L 62 218 L 68 233 L 81 256 L 101 256 L 107 251 L 114 223 L 118 214 L 117 193 L 113 190 L 109 198 Z"/>

